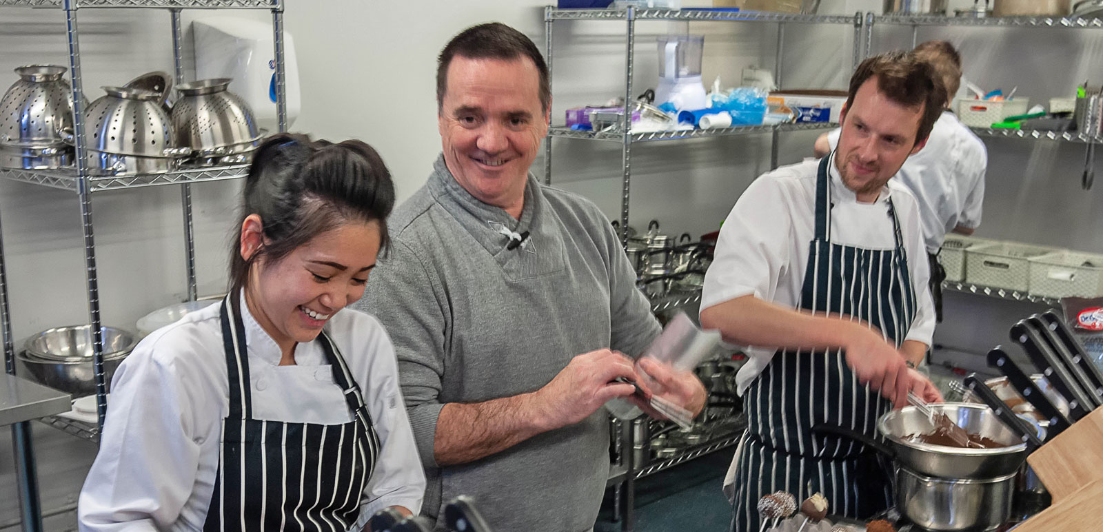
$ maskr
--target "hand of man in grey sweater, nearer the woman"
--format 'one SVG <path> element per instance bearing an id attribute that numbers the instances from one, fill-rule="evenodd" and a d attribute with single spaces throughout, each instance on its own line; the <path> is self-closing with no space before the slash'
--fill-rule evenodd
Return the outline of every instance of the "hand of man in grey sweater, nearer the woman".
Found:
<path id="1" fill-rule="evenodd" d="M 552 382 L 534 394 L 534 407 L 546 430 L 574 425 L 597 412 L 609 400 L 632 395 L 631 384 L 612 382 L 617 377 L 638 381 L 632 359 L 601 349 L 571 359 Z"/>

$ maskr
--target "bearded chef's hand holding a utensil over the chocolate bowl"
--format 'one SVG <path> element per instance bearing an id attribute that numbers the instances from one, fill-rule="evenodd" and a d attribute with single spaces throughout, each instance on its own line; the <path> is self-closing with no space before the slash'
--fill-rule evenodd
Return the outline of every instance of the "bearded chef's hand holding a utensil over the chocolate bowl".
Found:
<path id="1" fill-rule="evenodd" d="M 908 404 L 914 376 L 903 355 L 880 334 L 860 323 L 853 326 L 850 341 L 844 345 L 846 365 L 858 375 L 858 382 L 868 384 L 897 407 Z"/>

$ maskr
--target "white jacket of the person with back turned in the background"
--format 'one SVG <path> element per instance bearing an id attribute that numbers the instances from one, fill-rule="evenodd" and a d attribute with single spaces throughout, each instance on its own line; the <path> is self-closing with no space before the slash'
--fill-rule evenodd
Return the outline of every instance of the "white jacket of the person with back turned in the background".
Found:
<path id="1" fill-rule="evenodd" d="M 838 146 L 839 131 L 827 135 L 832 151 Z M 919 201 L 928 253 L 938 253 L 954 227 L 981 225 L 987 169 L 984 142 L 950 111 L 934 123 L 927 146 L 904 161 L 896 179 Z"/>

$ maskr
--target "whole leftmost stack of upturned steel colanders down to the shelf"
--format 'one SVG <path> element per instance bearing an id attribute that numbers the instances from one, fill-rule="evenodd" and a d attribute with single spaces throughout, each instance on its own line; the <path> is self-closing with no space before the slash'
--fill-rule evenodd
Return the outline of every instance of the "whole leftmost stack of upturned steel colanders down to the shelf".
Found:
<path id="1" fill-rule="evenodd" d="M 58 65 L 15 68 L 0 98 L 0 167 L 45 170 L 73 164 L 73 89 Z M 85 103 L 87 108 L 87 103 Z M 68 138 L 68 140 L 66 140 Z"/>

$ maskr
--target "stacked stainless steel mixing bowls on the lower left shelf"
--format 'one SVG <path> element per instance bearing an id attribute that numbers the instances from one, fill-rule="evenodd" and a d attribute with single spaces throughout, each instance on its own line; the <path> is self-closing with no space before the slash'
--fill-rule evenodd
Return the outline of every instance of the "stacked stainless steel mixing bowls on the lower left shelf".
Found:
<path id="1" fill-rule="evenodd" d="M 129 331 L 103 327 L 104 379 L 110 385 L 116 368 L 133 350 Z M 18 355 L 34 381 L 74 396 L 96 393 L 90 326 L 47 329 L 32 336 Z"/>

